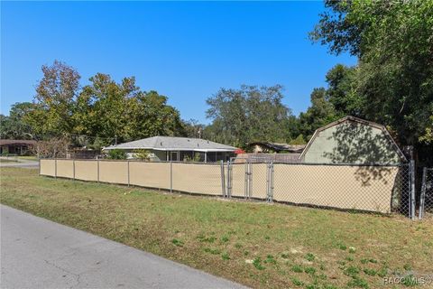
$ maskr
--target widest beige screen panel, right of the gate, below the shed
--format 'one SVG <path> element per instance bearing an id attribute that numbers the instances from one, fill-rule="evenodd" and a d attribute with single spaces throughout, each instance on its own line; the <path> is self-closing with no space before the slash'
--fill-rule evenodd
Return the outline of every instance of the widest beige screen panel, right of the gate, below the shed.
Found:
<path id="1" fill-rule="evenodd" d="M 395 166 L 274 164 L 273 200 L 387 213 L 398 172 Z"/>

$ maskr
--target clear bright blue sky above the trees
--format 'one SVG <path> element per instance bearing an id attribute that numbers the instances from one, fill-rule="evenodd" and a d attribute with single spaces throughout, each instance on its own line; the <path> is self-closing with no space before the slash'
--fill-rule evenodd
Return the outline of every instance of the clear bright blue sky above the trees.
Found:
<path id="1" fill-rule="evenodd" d="M 284 86 L 295 115 L 336 63 L 313 44 L 322 2 L 1 2 L 1 113 L 32 101 L 41 65 L 65 61 L 81 85 L 97 72 L 135 76 L 184 119 L 207 123 L 206 98 L 241 84 Z"/>

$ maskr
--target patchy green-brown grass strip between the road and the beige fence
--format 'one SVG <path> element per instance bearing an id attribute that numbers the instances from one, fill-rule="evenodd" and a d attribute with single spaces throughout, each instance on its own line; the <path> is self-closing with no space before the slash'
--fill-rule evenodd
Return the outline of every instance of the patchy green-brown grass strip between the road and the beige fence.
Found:
<path id="1" fill-rule="evenodd" d="M 378 288 L 433 275 L 433 222 L 227 201 L 2 168 L 1 202 L 253 287 Z M 401 285 L 388 285 L 400 288 Z M 427 287 L 427 286 L 426 286 Z"/>

